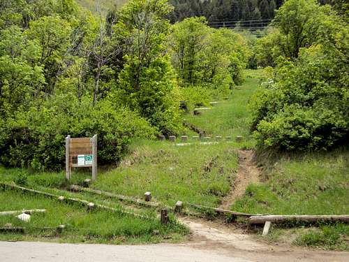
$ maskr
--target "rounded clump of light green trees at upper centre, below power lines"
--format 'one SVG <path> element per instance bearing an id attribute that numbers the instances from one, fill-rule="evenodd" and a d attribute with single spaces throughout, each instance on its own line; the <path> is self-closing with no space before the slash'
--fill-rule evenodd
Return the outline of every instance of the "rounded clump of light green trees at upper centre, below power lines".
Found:
<path id="1" fill-rule="evenodd" d="M 211 29 L 205 17 L 190 17 L 172 26 L 172 65 L 181 87 L 205 86 L 224 92 L 244 80 L 246 39 L 230 29 Z"/>

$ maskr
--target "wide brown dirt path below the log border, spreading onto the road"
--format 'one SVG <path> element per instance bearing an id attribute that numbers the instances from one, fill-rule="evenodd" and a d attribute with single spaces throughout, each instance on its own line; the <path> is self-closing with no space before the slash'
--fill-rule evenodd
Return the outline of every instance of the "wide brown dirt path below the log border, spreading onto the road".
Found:
<path id="1" fill-rule="evenodd" d="M 287 244 L 269 245 L 255 240 L 233 224 L 221 224 L 205 219 L 179 219 L 191 229 L 191 239 L 181 245 L 205 250 L 247 261 L 293 262 L 293 261 L 348 261 L 348 252 L 332 252 L 319 249 L 290 247 Z"/>

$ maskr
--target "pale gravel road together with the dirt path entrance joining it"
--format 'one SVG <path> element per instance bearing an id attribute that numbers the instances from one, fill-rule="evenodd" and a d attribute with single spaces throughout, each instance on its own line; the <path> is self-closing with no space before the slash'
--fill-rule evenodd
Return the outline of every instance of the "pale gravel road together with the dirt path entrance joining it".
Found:
<path id="1" fill-rule="evenodd" d="M 348 252 L 267 245 L 204 219 L 180 218 L 191 228 L 191 238 L 181 244 L 73 245 L 52 242 L 0 242 L 1 262 L 348 262 Z"/>

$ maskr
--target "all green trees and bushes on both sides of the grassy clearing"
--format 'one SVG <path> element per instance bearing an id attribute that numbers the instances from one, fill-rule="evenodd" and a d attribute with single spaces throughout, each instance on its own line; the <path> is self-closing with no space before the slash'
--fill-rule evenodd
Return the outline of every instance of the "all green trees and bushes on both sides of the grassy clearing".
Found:
<path id="1" fill-rule="evenodd" d="M 264 2 L 269 11 L 281 4 L 242 2 Z M 1 1 L 3 165 L 61 168 L 64 138 L 95 133 L 98 161 L 115 163 L 134 137 L 181 133 L 183 110 L 230 94 L 246 66 L 269 71 L 251 103 L 260 148 L 327 150 L 348 136 L 346 1 L 332 8 L 288 0 L 258 40 L 209 27 L 209 20 L 253 20 L 218 17 L 215 8 L 207 18 L 184 15 L 171 24 L 178 4 L 166 0 L 131 0 L 106 17 L 96 7 L 93 15 L 73 0 Z"/>

